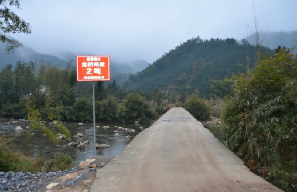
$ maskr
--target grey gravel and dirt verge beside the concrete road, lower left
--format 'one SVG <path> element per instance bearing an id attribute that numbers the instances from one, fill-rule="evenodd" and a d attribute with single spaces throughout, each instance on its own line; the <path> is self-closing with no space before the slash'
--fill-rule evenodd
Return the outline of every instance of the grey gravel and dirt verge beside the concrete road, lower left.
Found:
<path id="1" fill-rule="evenodd" d="M 1 192 L 89 192 L 97 170 L 111 158 L 93 156 L 88 166 L 48 173 L 0 172 Z M 90 168 L 91 167 L 91 168 Z"/>

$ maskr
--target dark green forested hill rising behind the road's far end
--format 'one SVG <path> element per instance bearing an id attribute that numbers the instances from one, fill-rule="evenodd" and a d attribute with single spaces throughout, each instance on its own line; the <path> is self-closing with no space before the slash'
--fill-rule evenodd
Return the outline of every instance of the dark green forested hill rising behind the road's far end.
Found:
<path id="1" fill-rule="evenodd" d="M 130 75 L 122 87 L 130 90 L 152 91 L 157 87 L 170 94 L 198 93 L 208 96 L 209 80 L 222 80 L 232 73 L 243 72 L 255 63 L 256 47 L 243 40 L 227 38 L 201 40 L 199 37 L 171 49 L 145 70 Z M 260 47 L 260 52 L 273 51 Z"/>

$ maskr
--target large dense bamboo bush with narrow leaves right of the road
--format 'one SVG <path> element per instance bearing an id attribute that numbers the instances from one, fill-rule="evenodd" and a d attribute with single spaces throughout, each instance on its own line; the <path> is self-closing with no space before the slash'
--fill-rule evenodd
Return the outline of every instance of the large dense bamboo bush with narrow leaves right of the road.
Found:
<path id="1" fill-rule="evenodd" d="M 223 112 L 228 147 L 272 184 L 296 191 L 297 55 L 281 49 L 233 79 Z"/>

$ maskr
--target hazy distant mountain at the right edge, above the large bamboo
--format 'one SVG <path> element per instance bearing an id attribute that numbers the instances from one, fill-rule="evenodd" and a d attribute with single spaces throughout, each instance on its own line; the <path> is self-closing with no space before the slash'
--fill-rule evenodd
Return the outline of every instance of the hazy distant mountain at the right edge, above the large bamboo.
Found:
<path id="1" fill-rule="evenodd" d="M 265 36 L 265 37 L 264 37 Z M 297 53 L 297 30 L 291 32 L 259 32 L 259 43 L 262 42 L 262 46 L 274 49 L 278 46 L 285 46 L 286 48 L 295 47 L 294 52 Z M 248 43 L 256 45 L 255 34 L 251 34 L 247 37 Z"/>

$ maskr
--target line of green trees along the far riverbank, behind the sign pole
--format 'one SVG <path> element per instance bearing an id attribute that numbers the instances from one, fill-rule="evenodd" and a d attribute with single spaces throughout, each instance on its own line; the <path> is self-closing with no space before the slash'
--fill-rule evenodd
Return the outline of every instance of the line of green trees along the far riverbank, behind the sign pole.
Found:
<path id="1" fill-rule="evenodd" d="M 52 63 L 17 62 L 0 71 L 0 115 L 2 118 L 28 118 L 28 102 L 49 119 L 47 96 L 60 107 L 61 121 L 93 121 L 92 83 L 77 82 L 75 68 L 68 63 L 59 69 Z M 127 92 L 117 85 L 97 82 L 95 87 L 96 119 L 104 122 L 149 123 L 164 112 L 164 94 Z"/>

